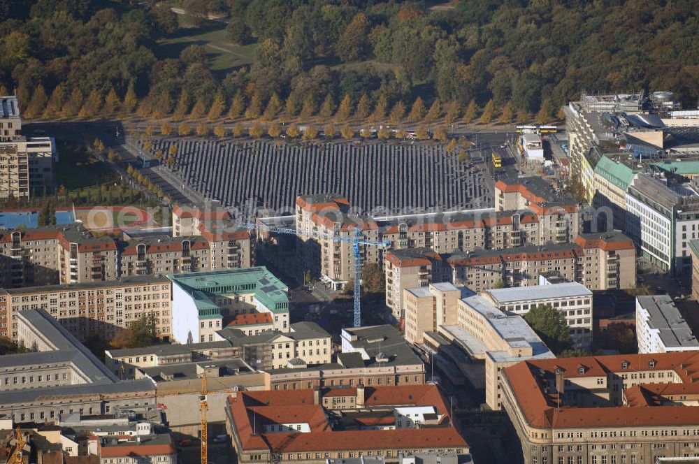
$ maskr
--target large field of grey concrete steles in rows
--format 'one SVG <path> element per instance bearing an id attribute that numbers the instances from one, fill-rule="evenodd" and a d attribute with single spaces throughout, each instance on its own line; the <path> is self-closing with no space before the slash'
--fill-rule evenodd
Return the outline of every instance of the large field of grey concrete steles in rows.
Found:
<path id="1" fill-rule="evenodd" d="M 282 144 L 271 141 L 156 140 L 177 145 L 173 171 L 203 196 L 226 207 L 293 208 L 298 194 L 336 191 L 364 211 L 377 206 L 456 210 L 491 204 L 484 172 L 447 154 L 444 145 L 416 143 Z"/>

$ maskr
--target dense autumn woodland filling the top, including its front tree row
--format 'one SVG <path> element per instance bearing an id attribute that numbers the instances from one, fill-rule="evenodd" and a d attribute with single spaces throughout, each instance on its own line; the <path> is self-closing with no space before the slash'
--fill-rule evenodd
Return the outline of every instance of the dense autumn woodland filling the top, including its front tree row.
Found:
<path id="1" fill-rule="evenodd" d="M 699 101 L 698 0 L 182 3 L 191 27 L 229 15 L 229 40 L 258 44 L 252 65 L 214 73 L 200 45 L 163 57 L 157 41 L 182 27 L 172 2 L 0 0 L 0 85 L 27 117 L 504 122 L 582 90 Z"/>

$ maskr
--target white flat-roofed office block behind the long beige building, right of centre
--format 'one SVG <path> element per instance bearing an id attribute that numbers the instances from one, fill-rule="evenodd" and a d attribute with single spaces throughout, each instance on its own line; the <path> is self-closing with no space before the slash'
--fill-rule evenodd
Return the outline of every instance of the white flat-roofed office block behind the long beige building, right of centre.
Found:
<path id="1" fill-rule="evenodd" d="M 483 296 L 501 311 L 524 316 L 538 306 L 559 310 L 568 324 L 570 340 L 579 349 L 592 344 L 592 292 L 577 282 L 488 289 Z"/>

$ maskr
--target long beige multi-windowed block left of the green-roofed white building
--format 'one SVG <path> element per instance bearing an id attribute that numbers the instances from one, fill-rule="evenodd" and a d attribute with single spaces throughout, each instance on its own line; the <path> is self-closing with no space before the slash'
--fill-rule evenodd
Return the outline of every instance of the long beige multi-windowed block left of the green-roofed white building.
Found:
<path id="1" fill-rule="evenodd" d="M 110 340 L 141 317 L 152 317 L 161 340 L 172 337 L 171 282 L 165 276 L 0 289 L 0 336 L 18 340 L 17 315 L 27 310 L 45 310 L 82 341 Z"/>

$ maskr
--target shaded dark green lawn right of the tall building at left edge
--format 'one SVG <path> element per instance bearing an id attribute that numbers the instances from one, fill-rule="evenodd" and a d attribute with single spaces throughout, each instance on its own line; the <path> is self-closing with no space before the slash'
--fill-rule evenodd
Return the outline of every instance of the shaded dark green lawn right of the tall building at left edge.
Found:
<path id="1" fill-rule="evenodd" d="M 56 184 L 69 191 L 115 182 L 118 176 L 110 167 L 89 155 L 85 147 L 73 143 L 57 143 L 59 160 L 55 165 Z"/>

